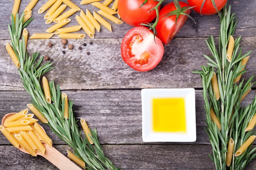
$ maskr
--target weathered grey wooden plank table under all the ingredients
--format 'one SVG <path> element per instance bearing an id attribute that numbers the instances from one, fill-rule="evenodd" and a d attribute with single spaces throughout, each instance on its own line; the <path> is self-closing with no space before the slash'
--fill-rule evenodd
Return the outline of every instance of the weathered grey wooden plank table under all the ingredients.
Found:
<path id="1" fill-rule="evenodd" d="M 10 24 L 13 0 L 1 1 L 0 11 L 0 118 L 10 112 L 18 112 L 31 103 L 29 94 L 20 81 L 20 76 L 5 45 L 10 42 L 7 24 Z M 32 10 L 34 21 L 27 27 L 29 36 L 45 33 L 49 25 L 43 20 L 44 14 L 37 11 L 46 0 L 40 0 Z M 85 11 L 97 11 L 92 5 L 80 5 Z M 167 2 L 172 2 L 168 0 Z M 167 2 L 164 2 L 165 4 Z M 29 0 L 21 0 L 20 11 Z M 232 12 L 237 13 L 238 25 L 235 37 L 242 36 L 243 53 L 252 50 L 251 58 L 243 75 L 246 80 L 256 73 L 256 1 L 228 0 Z M 53 59 L 54 69 L 47 73 L 48 80 L 59 84 L 74 102 L 74 114 L 88 122 L 90 128 L 97 128 L 99 141 L 108 157 L 123 170 L 172 170 L 172 169 L 215 169 L 208 154 L 211 145 L 204 127 L 206 126 L 202 83 L 197 74 L 191 71 L 206 65 L 203 54 L 210 55 L 205 39 L 219 35 L 217 15 L 200 16 L 191 13 L 197 25 L 188 19 L 184 27 L 169 45 L 165 46 L 164 56 L 159 65 L 148 72 L 137 72 L 121 58 L 120 45 L 126 32 L 132 28 L 126 24 L 112 24 L 112 32 L 101 27 L 94 39 L 68 40 L 73 50 L 63 49 L 59 38 L 49 40 L 28 40 L 29 54 L 39 51 Z M 76 25 L 74 15 L 70 26 Z M 50 24 L 52 25 L 52 24 Z M 83 32 L 83 30 L 79 31 Z M 48 47 L 52 42 L 53 47 Z M 92 45 L 90 45 L 92 42 Z M 87 46 L 83 46 L 87 43 Z M 79 50 L 82 47 L 82 50 Z M 66 51 L 65 54 L 62 51 Z M 87 51 L 90 55 L 87 55 Z M 256 78 L 253 79 L 256 81 Z M 144 143 L 141 136 L 141 89 L 142 88 L 195 88 L 197 141 L 193 143 Z M 255 85 L 254 85 L 255 88 Z M 253 89 L 243 101 L 251 103 L 256 90 Z M 47 134 L 54 147 L 67 155 L 69 148 L 46 125 Z M 255 147 L 255 146 L 254 146 Z M 57 169 L 43 157 L 32 157 L 20 152 L 0 133 L 0 169 Z M 256 170 L 256 159 L 247 166 Z"/>

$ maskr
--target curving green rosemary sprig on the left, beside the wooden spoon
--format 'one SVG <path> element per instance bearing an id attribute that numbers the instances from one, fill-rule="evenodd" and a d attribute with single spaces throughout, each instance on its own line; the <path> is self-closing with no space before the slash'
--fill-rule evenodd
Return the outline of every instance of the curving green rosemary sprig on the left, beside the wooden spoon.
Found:
<path id="1" fill-rule="evenodd" d="M 23 23 L 24 12 L 21 16 L 16 14 L 16 20 L 14 21 L 13 14 L 11 15 L 11 26 L 8 25 L 9 35 L 13 50 L 20 62 L 20 68 L 18 72 L 20 74 L 22 84 L 27 92 L 31 96 L 33 105 L 45 116 L 49 121 L 47 125 L 52 131 L 58 135 L 67 145 L 74 149 L 74 154 L 85 162 L 88 170 L 118 170 L 114 164 L 104 156 L 101 145 L 98 141 L 97 130 L 90 130 L 92 135 L 90 136 L 94 142 L 94 146 L 88 142 L 88 139 L 82 138 L 81 131 L 77 120 L 74 117 L 72 105 L 73 102 L 68 99 L 69 117 L 65 119 L 64 103 L 62 100 L 61 90 L 59 85 L 55 87 L 54 81 L 49 82 L 52 103 L 47 103 L 44 95 L 43 88 L 40 86 L 41 76 L 53 69 L 52 63 L 42 64 L 43 56 L 38 59 L 39 53 L 34 52 L 31 57 L 28 56 L 25 49 L 25 38 L 20 36 L 22 29 L 27 26 L 32 19 Z M 85 167 L 84 167 L 85 168 Z"/>

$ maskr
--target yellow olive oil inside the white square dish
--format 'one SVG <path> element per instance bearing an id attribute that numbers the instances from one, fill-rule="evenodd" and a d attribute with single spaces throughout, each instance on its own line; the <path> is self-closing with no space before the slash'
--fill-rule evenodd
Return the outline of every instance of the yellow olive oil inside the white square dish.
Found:
<path id="1" fill-rule="evenodd" d="M 184 98 L 153 98 L 153 130 L 186 132 Z"/>

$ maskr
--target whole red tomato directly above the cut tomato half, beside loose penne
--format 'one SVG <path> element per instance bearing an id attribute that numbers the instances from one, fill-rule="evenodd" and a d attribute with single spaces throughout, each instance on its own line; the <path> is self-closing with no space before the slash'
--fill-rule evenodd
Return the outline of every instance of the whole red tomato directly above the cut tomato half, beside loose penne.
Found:
<path id="1" fill-rule="evenodd" d="M 142 22 L 150 23 L 156 18 L 155 10 L 149 12 L 154 8 L 158 2 L 155 0 L 148 0 L 142 7 L 144 0 L 119 0 L 117 9 L 121 19 L 129 25 L 138 26 Z M 160 7 L 159 7 L 160 9 Z"/>

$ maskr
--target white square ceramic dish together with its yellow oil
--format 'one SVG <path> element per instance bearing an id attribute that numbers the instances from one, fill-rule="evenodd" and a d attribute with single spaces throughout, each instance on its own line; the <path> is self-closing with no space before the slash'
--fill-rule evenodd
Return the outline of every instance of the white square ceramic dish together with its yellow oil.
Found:
<path id="1" fill-rule="evenodd" d="M 195 89 L 141 89 L 144 142 L 194 142 Z"/>

